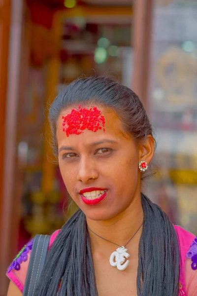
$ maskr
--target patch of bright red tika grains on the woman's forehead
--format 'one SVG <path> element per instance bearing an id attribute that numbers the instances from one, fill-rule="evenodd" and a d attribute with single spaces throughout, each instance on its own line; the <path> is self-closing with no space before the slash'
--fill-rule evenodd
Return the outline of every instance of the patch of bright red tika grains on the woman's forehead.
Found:
<path id="1" fill-rule="evenodd" d="M 103 128 L 103 131 L 105 131 L 105 119 L 97 107 L 82 109 L 79 105 L 79 110 L 72 109 L 69 114 L 62 116 L 62 119 L 62 130 L 66 132 L 67 137 L 73 134 L 80 135 L 85 129 L 97 132 Z"/>

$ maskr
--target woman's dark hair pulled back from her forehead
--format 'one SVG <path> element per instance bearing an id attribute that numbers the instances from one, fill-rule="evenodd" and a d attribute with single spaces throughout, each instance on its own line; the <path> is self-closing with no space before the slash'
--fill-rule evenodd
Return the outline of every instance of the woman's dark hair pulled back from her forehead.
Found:
<path id="1" fill-rule="evenodd" d="M 125 132 L 132 135 L 132 139 L 136 142 L 145 140 L 147 135 L 153 137 L 152 126 L 144 106 L 130 88 L 108 77 L 80 78 L 66 86 L 49 109 L 55 155 L 57 155 L 57 120 L 60 113 L 79 104 L 82 106 L 97 104 L 114 110 L 122 121 Z"/>

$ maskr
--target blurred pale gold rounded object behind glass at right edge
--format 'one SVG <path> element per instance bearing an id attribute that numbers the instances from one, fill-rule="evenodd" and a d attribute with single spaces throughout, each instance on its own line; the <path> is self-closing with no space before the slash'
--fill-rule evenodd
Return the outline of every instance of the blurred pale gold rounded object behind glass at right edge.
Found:
<path id="1" fill-rule="evenodd" d="M 179 47 L 171 47 L 158 60 L 157 79 L 169 103 L 196 104 L 197 60 Z"/>

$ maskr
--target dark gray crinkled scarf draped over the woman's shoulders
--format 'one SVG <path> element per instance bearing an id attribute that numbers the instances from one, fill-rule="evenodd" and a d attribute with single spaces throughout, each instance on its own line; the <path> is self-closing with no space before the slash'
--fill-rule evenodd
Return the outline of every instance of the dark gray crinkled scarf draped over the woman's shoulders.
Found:
<path id="1" fill-rule="evenodd" d="M 144 222 L 137 296 L 177 296 L 180 259 L 176 231 L 160 207 L 143 194 L 141 201 Z M 56 296 L 57 291 L 58 296 L 98 296 L 90 237 L 81 210 L 66 222 L 50 248 L 35 296 Z"/>

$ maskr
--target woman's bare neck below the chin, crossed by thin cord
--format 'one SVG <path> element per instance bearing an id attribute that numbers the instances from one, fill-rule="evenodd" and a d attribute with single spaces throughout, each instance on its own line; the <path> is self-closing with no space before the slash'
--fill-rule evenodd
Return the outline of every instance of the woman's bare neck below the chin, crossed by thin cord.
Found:
<path id="1" fill-rule="evenodd" d="M 135 196 L 129 205 L 129 207 L 117 216 L 106 221 L 93 221 L 86 218 L 88 227 L 96 234 L 110 242 L 125 246 L 130 238 L 134 235 L 137 229 L 143 222 L 143 209 L 141 205 L 141 197 Z M 107 242 L 89 229 L 89 235 L 91 239 L 91 246 L 93 250 L 99 250 L 102 248 L 114 249 L 118 248 L 114 244 Z M 128 244 L 129 247 L 132 243 L 138 243 L 142 232 L 142 227 L 131 239 Z"/>

